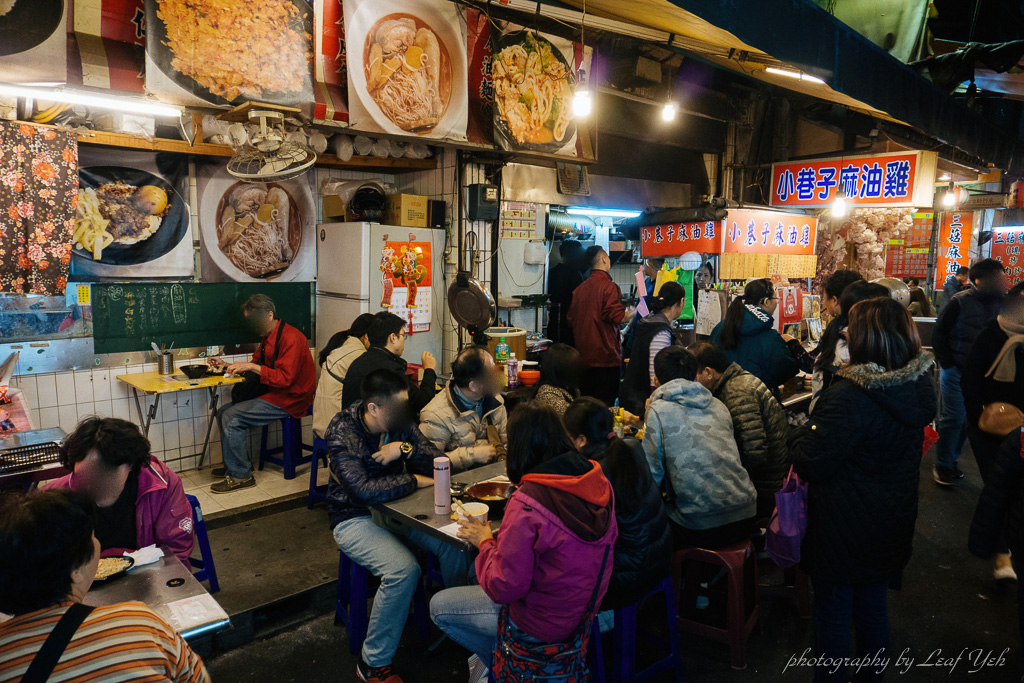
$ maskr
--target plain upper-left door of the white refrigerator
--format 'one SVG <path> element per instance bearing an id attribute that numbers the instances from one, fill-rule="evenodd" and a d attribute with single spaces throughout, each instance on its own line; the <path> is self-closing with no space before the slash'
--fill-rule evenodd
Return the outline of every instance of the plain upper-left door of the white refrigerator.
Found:
<path id="1" fill-rule="evenodd" d="M 378 227 L 374 225 L 373 227 Z M 316 291 L 352 299 L 370 296 L 370 223 L 321 223 L 316 226 Z"/>

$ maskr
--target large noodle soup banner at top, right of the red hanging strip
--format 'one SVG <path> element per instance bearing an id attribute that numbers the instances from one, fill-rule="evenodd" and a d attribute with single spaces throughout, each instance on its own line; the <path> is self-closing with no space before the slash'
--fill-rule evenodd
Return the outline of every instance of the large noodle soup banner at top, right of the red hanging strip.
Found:
<path id="1" fill-rule="evenodd" d="M 465 140 L 466 20 L 445 0 L 344 0 L 349 124 Z"/>

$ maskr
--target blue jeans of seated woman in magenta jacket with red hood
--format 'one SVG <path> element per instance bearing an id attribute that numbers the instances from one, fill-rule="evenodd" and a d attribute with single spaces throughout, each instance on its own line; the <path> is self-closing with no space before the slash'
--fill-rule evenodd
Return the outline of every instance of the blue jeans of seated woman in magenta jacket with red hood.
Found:
<path id="1" fill-rule="evenodd" d="M 490 669 L 498 644 L 498 612 L 479 586 L 449 588 L 430 601 L 430 618 L 444 634 L 480 657 Z"/>

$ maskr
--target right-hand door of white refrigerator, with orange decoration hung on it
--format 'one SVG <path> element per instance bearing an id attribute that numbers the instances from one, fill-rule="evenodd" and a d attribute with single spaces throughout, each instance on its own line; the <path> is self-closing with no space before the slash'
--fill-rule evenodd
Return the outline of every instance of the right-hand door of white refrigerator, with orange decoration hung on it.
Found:
<path id="1" fill-rule="evenodd" d="M 444 312 L 444 231 L 427 227 L 397 227 L 394 225 L 372 225 L 370 227 L 370 310 L 390 310 L 409 322 L 410 333 L 406 340 L 403 357 L 411 364 L 419 364 L 423 351 L 430 351 L 435 358 L 441 357 L 443 334 L 441 315 Z M 417 285 L 415 297 L 410 300 L 409 287 L 400 280 L 390 278 L 391 291 L 385 296 L 385 278 L 380 265 L 401 271 L 403 252 L 409 249 L 421 250 L 416 259 L 410 259 L 410 270 L 426 267 L 429 263 L 429 280 L 424 278 Z M 390 250 L 390 251 L 385 251 Z M 426 252 L 430 256 L 427 259 Z M 412 261 L 415 260 L 415 263 Z M 429 283 L 429 284 L 428 284 Z M 390 305 L 387 305 L 390 304 Z M 413 304 L 413 305 L 409 305 Z M 438 372 L 442 369 L 438 368 Z"/>

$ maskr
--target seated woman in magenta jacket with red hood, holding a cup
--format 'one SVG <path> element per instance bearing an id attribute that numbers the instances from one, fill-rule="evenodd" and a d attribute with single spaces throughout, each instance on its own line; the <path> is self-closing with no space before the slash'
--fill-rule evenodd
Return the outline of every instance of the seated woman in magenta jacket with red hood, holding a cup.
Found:
<path id="1" fill-rule="evenodd" d="M 600 465 L 571 451 L 547 405 L 530 401 L 512 413 L 506 467 L 519 487 L 498 539 L 473 520 L 459 531 L 480 550 L 479 586 L 447 589 L 430 602 L 438 628 L 488 668 L 503 605 L 518 643 L 562 643 L 577 633 L 589 603 L 600 604 L 607 590 L 617 536 L 611 486 Z"/>

